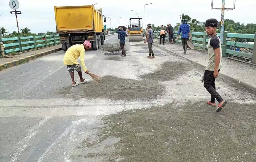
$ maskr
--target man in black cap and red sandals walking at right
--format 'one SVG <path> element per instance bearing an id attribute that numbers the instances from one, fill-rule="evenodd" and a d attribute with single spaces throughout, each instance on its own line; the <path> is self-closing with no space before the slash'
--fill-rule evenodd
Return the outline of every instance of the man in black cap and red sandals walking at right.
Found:
<path id="1" fill-rule="evenodd" d="M 221 98 L 221 96 L 219 95 L 215 88 L 215 79 L 219 76 L 222 57 L 220 39 L 216 34 L 217 27 L 218 21 L 216 19 L 206 20 L 205 31 L 207 33 L 207 36 L 210 37 L 209 42 L 207 44 L 209 61 L 204 72 L 203 80 L 204 87 L 211 94 L 211 101 L 207 101 L 207 104 L 216 106 L 216 98 L 219 102 L 216 112 L 220 112 L 221 109 L 227 104 L 227 101 Z"/>

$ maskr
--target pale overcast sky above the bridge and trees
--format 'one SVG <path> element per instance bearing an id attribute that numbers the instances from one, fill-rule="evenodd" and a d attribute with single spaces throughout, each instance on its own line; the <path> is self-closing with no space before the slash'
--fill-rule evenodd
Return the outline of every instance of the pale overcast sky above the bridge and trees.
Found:
<path id="1" fill-rule="evenodd" d="M 171 23 L 173 26 L 180 22 L 179 15 L 182 13 L 195 18 L 200 22 L 208 18 L 221 19 L 221 10 L 211 10 L 211 0 L 177 0 L 177 1 L 157 1 L 157 0 L 18 0 L 20 7 L 17 11 L 20 28 L 28 27 L 32 33 L 56 31 L 54 6 L 76 6 L 95 4 L 97 9 L 102 8 L 104 16 L 111 17 L 111 27 L 128 25 L 129 18 L 143 18 L 144 26 L 144 4 L 146 5 L 146 24 L 154 23 L 155 26 Z M 226 0 L 226 7 L 232 7 L 234 0 Z M 110 2 L 110 3 L 109 3 Z M 221 6 L 221 0 L 214 0 L 215 7 Z M 256 0 L 236 0 L 235 10 L 226 10 L 225 19 L 233 19 L 241 24 L 256 23 Z M 135 10 L 137 12 L 131 11 Z M 9 0 L 0 0 L 0 26 L 9 32 L 17 31 L 15 15 L 11 15 L 12 9 L 9 7 Z M 107 28 L 110 28 L 110 19 L 107 18 Z"/>

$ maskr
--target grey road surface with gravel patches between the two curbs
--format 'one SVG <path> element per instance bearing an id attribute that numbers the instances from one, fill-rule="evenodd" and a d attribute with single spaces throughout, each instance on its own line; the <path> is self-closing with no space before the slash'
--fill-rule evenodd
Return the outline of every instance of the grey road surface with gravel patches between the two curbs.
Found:
<path id="1" fill-rule="evenodd" d="M 143 42 L 127 41 L 127 57 L 104 51 L 116 38 L 86 51 L 101 83 L 83 73 L 72 88 L 63 51 L 0 73 L 0 161 L 256 159 L 254 94 L 217 79 L 228 104 L 215 113 L 203 69 L 156 47 L 148 59 Z"/>

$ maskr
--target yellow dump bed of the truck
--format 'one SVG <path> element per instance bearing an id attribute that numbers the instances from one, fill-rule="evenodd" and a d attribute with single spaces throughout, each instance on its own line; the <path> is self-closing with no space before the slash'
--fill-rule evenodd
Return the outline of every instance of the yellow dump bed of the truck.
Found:
<path id="1" fill-rule="evenodd" d="M 90 6 L 54 6 L 57 33 L 102 32 L 101 9 Z"/>

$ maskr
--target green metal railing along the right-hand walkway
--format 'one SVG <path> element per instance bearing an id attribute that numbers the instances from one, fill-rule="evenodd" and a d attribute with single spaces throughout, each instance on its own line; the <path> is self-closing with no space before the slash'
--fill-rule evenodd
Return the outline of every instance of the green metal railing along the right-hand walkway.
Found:
<path id="1" fill-rule="evenodd" d="M 145 34 L 145 31 L 143 31 Z M 177 41 L 178 32 L 174 31 L 175 42 L 181 43 L 181 39 Z M 166 32 L 166 41 L 169 40 Z M 208 49 L 207 43 L 209 42 L 209 37 L 206 35 L 206 32 L 194 32 L 191 31 L 192 42 L 195 47 L 206 51 Z M 217 33 L 220 37 L 220 33 Z M 160 38 L 160 31 L 154 31 L 154 38 Z M 181 36 L 179 36 L 181 38 Z M 251 39 L 254 43 L 242 43 L 231 41 L 232 39 Z M 256 64 L 256 34 L 237 34 L 224 32 L 223 36 L 223 45 L 222 47 L 222 57 L 227 56 L 239 56 L 251 60 L 252 63 Z M 240 50 L 244 49 L 244 50 Z M 253 50 L 255 49 L 255 50 Z"/>

